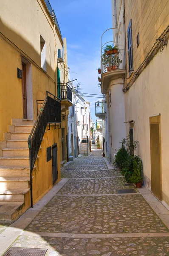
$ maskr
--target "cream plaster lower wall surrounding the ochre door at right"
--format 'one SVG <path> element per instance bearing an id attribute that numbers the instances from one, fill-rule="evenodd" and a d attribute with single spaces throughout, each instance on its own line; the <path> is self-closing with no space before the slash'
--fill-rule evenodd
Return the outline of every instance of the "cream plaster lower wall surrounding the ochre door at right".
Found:
<path id="1" fill-rule="evenodd" d="M 161 64 L 159 66 L 159 63 Z M 151 187 L 149 116 L 161 113 L 161 172 L 163 199 L 169 204 L 169 47 L 158 52 L 125 94 L 126 120 L 135 120 L 134 140 L 139 141 L 143 171 Z M 127 124 L 126 133 L 129 133 Z"/>

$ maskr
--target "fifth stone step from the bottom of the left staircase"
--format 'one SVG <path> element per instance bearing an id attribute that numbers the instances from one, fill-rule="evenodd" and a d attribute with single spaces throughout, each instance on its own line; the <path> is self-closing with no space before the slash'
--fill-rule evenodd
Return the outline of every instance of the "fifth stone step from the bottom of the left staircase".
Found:
<path id="1" fill-rule="evenodd" d="M 29 166 L 29 157 L 0 157 L 0 166 Z"/>

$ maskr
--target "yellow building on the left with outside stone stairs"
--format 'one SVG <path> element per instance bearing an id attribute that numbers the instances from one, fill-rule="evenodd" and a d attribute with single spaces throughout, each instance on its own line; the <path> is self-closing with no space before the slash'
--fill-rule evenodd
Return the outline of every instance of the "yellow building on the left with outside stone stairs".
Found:
<path id="1" fill-rule="evenodd" d="M 65 55 L 61 31 L 48 0 L 0 1 L 3 221 L 14 221 L 31 206 L 30 177 L 32 204 L 61 179 L 60 162 L 67 159 L 66 120 L 71 105 L 67 84 L 63 84 L 68 81 L 65 38 L 64 43 Z"/>

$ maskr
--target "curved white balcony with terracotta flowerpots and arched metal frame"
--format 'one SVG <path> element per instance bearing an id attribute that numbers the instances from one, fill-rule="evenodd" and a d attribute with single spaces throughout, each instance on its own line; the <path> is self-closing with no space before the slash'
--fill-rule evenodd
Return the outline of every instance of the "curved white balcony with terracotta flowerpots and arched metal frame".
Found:
<path id="1" fill-rule="evenodd" d="M 103 43 L 103 35 L 111 32 L 112 41 L 107 41 L 109 36 L 106 36 L 106 43 Z M 115 37 L 113 38 L 113 34 Z M 122 41 L 121 31 L 119 29 L 107 29 L 101 36 L 101 93 L 106 94 L 109 83 L 118 77 L 124 77 L 126 73 L 125 63 L 125 47 Z M 121 42 L 117 43 L 115 38 L 121 35 Z M 111 38 L 110 38 L 111 39 Z M 114 40 L 114 41 L 113 41 Z M 113 49 L 108 50 L 108 47 Z"/>

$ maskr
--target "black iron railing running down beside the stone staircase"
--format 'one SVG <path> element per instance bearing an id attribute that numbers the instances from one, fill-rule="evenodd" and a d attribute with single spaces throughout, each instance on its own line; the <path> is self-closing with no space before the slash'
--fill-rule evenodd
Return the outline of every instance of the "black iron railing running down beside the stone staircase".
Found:
<path id="1" fill-rule="evenodd" d="M 40 145 L 45 134 L 48 123 L 61 122 L 61 103 L 52 93 L 46 91 L 46 97 L 40 107 L 37 119 L 28 137 L 29 147 L 29 163 L 30 163 L 30 189 L 31 189 L 31 207 L 33 207 L 33 195 L 32 195 L 32 171 L 37 159 Z M 50 94 L 51 96 L 49 96 Z M 54 96 L 54 98 L 52 98 Z M 38 101 L 37 101 L 38 102 Z M 42 102 L 42 101 L 40 101 Z M 37 108 L 38 109 L 38 108 Z"/>

